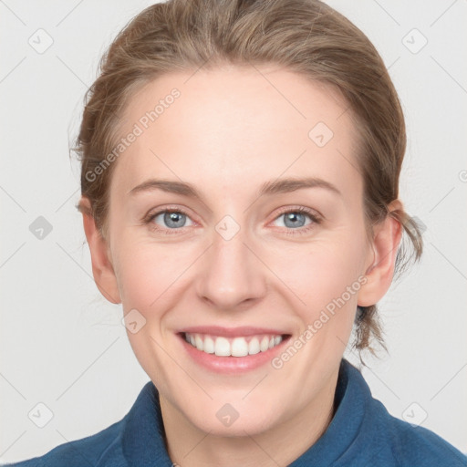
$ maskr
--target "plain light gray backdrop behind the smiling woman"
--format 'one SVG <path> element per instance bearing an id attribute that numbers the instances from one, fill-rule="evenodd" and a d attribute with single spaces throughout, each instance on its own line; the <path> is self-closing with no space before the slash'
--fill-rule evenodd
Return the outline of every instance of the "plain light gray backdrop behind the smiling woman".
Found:
<path id="1" fill-rule="evenodd" d="M 99 57 L 151 3 L 0 0 L 3 462 L 108 427 L 149 380 L 120 324 L 120 306 L 94 285 L 68 141 Z M 370 360 L 363 373 L 390 413 L 465 452 L 467 2 L 328 3 L 369 36 L 389 67 L 409 133 L 401 198 L 426 225 L 420 265 L 381 302 L 389 357 Z M 53 44 L 39 53 L 47 40 Z M 31 224 L 45 228 L 42 239 Z"/>

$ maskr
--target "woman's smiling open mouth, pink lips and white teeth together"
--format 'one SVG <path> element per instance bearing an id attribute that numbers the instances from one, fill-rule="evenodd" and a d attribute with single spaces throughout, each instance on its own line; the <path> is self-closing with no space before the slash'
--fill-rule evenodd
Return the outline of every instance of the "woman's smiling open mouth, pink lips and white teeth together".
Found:
<path id="1" fill-rule="evenodd" d="M 177 336 L 194 363 L 224 374 L 265 366 L 292 337 L 276 329 L 258 327 L 192 327 Z"/>

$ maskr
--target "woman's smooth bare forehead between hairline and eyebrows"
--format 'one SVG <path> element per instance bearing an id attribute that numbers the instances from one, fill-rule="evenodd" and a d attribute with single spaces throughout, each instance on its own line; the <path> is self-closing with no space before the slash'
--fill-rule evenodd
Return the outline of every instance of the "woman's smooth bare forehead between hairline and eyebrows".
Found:
<path id="1" fill-rule="evenodd" d="M 337 92 L 294 72 L 222 67 L 171 73 L 128 103 L 112 186 L 151 176 L 238 192 L 281 175 L 358 188 L 356 129 Z M 126 138 L 128 140 L 128 138 Z"/>

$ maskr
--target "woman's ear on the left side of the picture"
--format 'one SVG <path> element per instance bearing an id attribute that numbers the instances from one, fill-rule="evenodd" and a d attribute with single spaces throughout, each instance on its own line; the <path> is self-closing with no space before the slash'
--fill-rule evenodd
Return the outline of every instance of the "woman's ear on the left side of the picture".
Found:
<path id="1" fill-rule="evenodd" d="M 119 286 L 109 254 L 109 245 L 96 227 L 91 215 L 91 205 L 86 196 L 79 202 L 83 214 L 83 226 L 91 253 L 92 275 L 100 293 L 111 303 L 120 303 Z"/>

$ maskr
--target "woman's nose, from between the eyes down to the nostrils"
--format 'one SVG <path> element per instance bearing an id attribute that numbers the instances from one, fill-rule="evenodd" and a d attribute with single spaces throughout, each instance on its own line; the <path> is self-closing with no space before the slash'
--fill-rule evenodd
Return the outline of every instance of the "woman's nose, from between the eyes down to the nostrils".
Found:
<path id="1" fill-rule="evenodd" d="M 223 311 L 252 306 L 266 293 L 265 265 L 254 253 L 244 229 L 230 239 L 219 232 L 213 232 L 213 244 L 201 258 L 198 296 Z"/>

